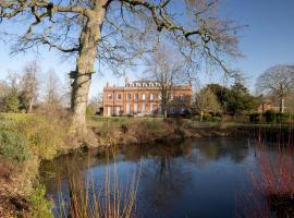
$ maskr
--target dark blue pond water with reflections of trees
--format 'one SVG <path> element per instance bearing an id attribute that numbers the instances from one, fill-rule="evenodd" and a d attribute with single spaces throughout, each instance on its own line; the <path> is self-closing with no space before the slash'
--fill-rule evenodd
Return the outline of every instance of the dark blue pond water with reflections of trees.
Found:
<path id="1" fill-rule="evenodd" d="M 60 192 L 69 202 L 69 171 L 94 179 L 98 190 L 105 184 L 106 166 L 113 167 L 113 161 L 89 150 L 44 162 L 41 179 L 56 202 L 54 213 Z M 258 170 L 256 145 L 246 138 L 200 138 L 131 146 L 118 152 L 115 170 L 124 187 L 140 172 L 137 217 L 242 217 L 240 208 L 252 204 L 246 195 L 253 191 L 249 175 Z"/>

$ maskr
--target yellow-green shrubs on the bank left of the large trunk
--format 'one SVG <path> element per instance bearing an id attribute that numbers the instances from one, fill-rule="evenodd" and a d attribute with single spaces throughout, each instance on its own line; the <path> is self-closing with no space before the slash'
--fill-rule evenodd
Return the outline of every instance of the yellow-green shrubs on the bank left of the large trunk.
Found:
<path id="1" fill-rule="evenodd" d="M 63 118 L 51 114 L 50 118 L 41 114 L 2 114 L 0 130 L 17 133 L 27 142 L 32 155 L 40 159 L 53 158 L 58 150 L 65 146 L 69 135 L 69 125 Z"/>

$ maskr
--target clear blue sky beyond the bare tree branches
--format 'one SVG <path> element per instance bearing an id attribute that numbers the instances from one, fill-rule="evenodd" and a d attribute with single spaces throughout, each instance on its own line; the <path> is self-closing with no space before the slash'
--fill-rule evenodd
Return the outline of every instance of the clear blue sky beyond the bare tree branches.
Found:
<path id="1" fill-rule="evenodd" d="M 294 64 L 294 0 L 224 0 L 221 11 L 238 25 L 246 25 L 237 33 L 244 58 L 230 64 L 244 73 L 246 85 L 253 93 L 256 78 L 268 68 Z M 1 24 L 0 32 L 1 28 L 16 29 L 17 33 L 19 26 Z M 74 60 L 62 59 L 53 49 L 41 49 L 38 56 L 32 52 L 10 56 L 12 41 L 13 39 L 0 40 L 0 80 L 5 80 L 9 70 L 21 71 L 27 61 L 36 59 L 44 73 L 53 69 L 61 81 L 65 81 L 66 73 L 75 69 Z M 117 86 L 123 84 L 124 77 L 118 78 L 108 69 L 99 68 L 96 64 L 96 70 L 102 73 L 94 75 L 89 97 L 101 93 L 107 82 Z M 127 73 L 131 78 L 136 78 L 136 74 L 138 73 Z M 217 73 L 201 72 L 198 75 L 203 85 L 225 81 Z"/>

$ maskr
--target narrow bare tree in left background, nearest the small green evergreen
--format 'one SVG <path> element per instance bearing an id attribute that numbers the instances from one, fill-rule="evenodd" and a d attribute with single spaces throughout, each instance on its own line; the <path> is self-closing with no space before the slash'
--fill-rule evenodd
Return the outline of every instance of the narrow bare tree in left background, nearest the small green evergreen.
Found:
<path id="1" fill-rule="evenodd" d="M 21 81 L 21 101 L 26 112 L 32 112 L 33 105 L 37 100 L 39 82 L 37 74 L 40 73 L 40 66 L 36 61 L 27 63 L 23 69 Z"/>

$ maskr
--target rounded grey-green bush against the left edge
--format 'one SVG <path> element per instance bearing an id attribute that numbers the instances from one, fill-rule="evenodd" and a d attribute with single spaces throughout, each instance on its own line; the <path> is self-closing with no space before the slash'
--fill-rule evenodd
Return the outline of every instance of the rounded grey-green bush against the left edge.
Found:
<path id="1" fill-rule="evenodd" d="M 0 156 L 22 162 L 30 157 L 27 141 L 17 132 L 1 130 Z"/>

